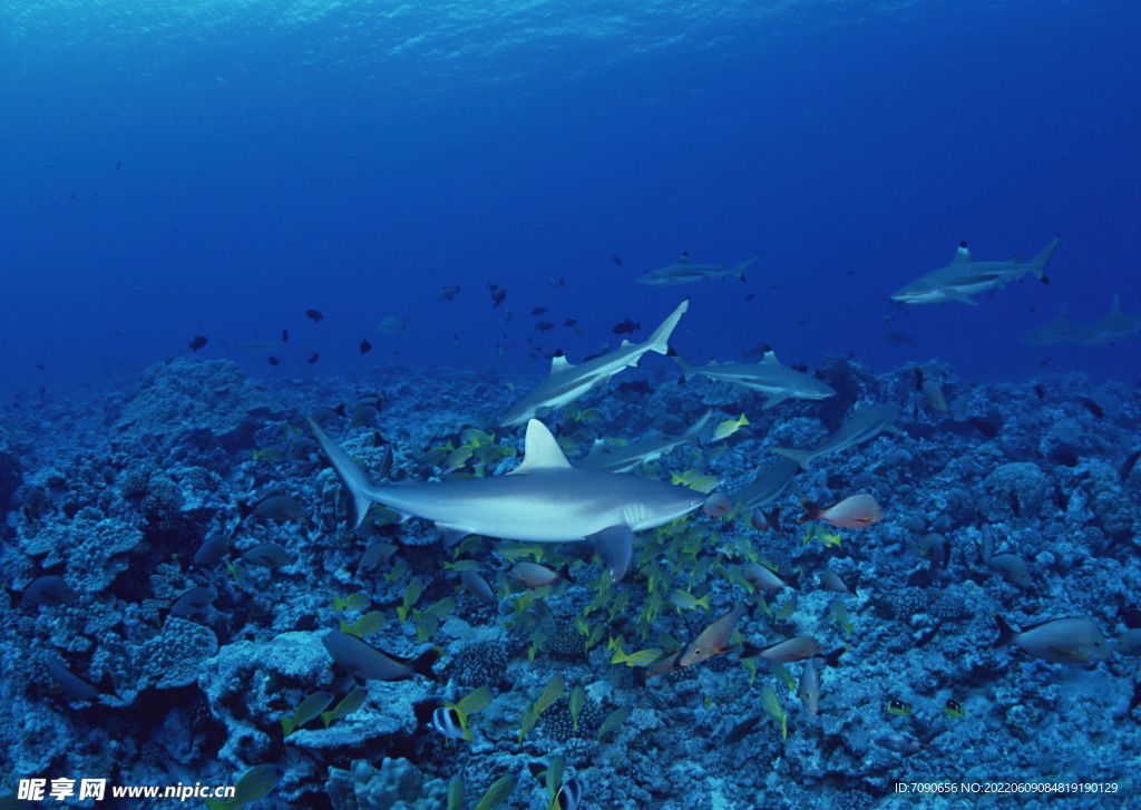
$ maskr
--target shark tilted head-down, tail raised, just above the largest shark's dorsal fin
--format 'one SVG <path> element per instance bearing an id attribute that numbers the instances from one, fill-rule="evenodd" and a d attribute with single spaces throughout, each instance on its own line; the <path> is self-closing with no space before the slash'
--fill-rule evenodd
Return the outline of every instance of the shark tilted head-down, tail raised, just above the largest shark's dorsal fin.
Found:
<path id="1" fill-rule="evenodd" d="M 570 365 L 561 355 L 551 361 L 551 373 L 539 383 L 535 390 L 515 404 L 515 407 L 503 418 L 501 424 L 511 427 L 523 424 L 535 416 L 543 418 L 556 408 L 566 407 L 596 386 L 605 386 L 610 378 L 623 368 L 638 365 L 638 361 L 647 351 L 664 355 L 670 350 L 670 335 L 681 316 L 689 309 L 689 299 L 678 305 L 670 316 L 654 330 L 645 343 L 631 343 L 623 340 L 614 351 L 586 361 L 580 365 Z"/>

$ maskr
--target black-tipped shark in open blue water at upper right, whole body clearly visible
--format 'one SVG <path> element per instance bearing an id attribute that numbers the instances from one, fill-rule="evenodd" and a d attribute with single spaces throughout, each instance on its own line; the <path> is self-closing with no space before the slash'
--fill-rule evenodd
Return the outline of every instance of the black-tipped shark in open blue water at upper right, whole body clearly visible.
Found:
<path id="1" fill-rule="evenodd" d="M 1028 262 L 1019 261 L 1017 256 L 1011 261 L 976 261 L 966 243 L 960 242 L 955 259 L 949 265 L 896 290 L 891 300 L 900 303 L 962 301 L 977 306 L 978 301 L 971 300 L 971 295 L 1005 286 L 1008 282 L 1021 280 L 1027 273 L 1033 273 L 1038 281 L 1049 284 L 1046 262 L 1054 254 L 1060 238 L 1061 236 L 1055 236 L 1053 242 Z"/>

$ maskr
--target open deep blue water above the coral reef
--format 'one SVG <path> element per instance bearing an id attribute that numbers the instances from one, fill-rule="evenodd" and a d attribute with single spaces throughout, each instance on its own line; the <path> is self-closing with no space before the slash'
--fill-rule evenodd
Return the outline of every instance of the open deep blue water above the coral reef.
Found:
<path id="1" fill-rule="evenodd" d="M 194 334 L 222 356 L 219 340 L 282 327 L 278 368 L 236 358 L 539 372 L 526 338 L 577 362 L 685 297 L 672 342 L 695 361 L 768 342 L 814 366 L 855 351 L 978 380 L 1141 376 L 1136 339 L 1020 342 L 1067 302 L 1084 321 L 1114 293 L 1141 311 L 1135 3 L 152 6 L 0 10 L 2 384 L 143 366 Z M 1029 258 L 1057 233 L 1049 286 L 888 306 L 960 240 Z M 745 284 L 636 283 L 682 250 L 762 258 Z M 534 331 L 537 306 L 585 334 Z"/>

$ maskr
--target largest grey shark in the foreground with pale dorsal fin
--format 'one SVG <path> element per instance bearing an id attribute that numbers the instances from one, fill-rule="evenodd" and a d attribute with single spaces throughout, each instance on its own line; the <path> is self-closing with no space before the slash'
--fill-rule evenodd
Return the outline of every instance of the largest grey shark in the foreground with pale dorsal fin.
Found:
<path id="1" fill-rule="evenodd" d="M 728 511 L 722 494 L 706 496 L 665 481 L 570 465 L 551 431 L 527 422 L 523 463 L 503 476 L 400 485 L 373 484 L 365 471 L 307 418 L 353 501 L 359 526 L 369 505 L 380 503 L 407 517 L 431 520 L 447 543 L 469 534 L 529 543 L 592 540 L 617 582 L 633 554 L 634 532 L 663 526 L 702 507 Z"/>

